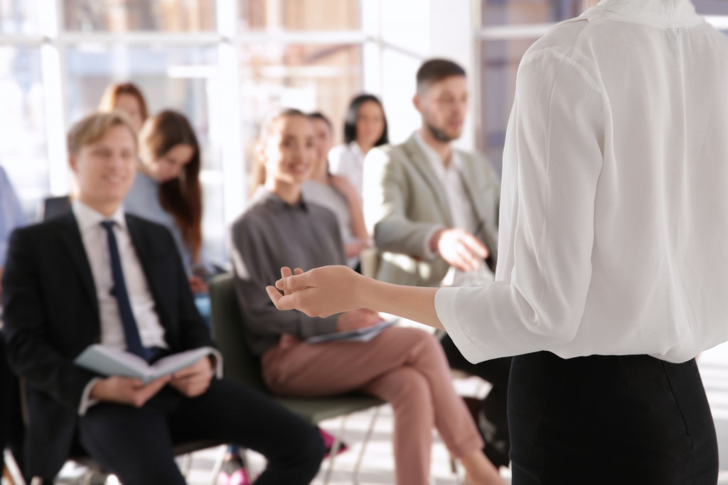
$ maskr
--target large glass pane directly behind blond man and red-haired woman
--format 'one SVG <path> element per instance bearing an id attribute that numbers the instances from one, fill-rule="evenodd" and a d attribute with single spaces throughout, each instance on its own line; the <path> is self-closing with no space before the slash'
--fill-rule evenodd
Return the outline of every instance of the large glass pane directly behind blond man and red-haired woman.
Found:
<path id="1" fill-rule="evenodd" d="M 140 87 L 149 113 L 174 109 L 189 119 L 202 147 L 202 234 L 205 256 L 226 261 L 223 212 L 223 176 L 220 147 L 210 140 L 210 125 L 223 102 L 211 84 L 217 76 L 217 49 L 175 47 L 152 49 L 118 45 L 76 46 L 66 51 L 70 123 L 95 111 L 103 90 L 114 81 L 132 81 Z"/>

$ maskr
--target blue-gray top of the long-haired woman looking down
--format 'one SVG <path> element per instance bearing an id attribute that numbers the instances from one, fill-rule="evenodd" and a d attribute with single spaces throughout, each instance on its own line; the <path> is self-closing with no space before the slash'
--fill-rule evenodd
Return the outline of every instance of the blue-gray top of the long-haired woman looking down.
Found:
<path id="1" fill-rule="evenodd" d="M 159 201 L 159 183 L 151 177 L 137 172 L 134 185 L 132 185 L 126 199 L 124 199 L 124 211 L 151 220 L 153 223 L 161 224 L 169 229 L 182 257 L 184 270 L 188 275 L 191 274 L 192 253 L 185 244 L 177 223 L 175 223 L 175 217 L 165 211 L 162 202 Z"/>

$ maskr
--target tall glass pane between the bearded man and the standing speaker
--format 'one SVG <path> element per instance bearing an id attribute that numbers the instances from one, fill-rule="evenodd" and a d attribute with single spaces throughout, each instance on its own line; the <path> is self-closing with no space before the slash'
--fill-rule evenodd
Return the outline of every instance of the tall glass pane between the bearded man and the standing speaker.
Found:
<path id="1" fill-rule="evenodd" d="M 508 117 L 515 96 L 515 76 L 526 50 L 536 39 L 483 41 L 480 43 L 480 113 L 478 149 L 501 172 Z"/>

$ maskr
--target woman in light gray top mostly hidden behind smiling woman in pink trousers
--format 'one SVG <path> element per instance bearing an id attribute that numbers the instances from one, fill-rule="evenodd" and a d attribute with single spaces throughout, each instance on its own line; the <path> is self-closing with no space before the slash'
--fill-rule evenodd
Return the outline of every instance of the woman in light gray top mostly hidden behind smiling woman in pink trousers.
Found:
<path id="1" fill-rule="evenodd" d="M 331 121 L 321 113 L 309 114 L 316 133 L 316 162 L 311 178 L 301 186 L 307 201 L 323 205 L 336 215 L 344 242 L 349 268 L 357 268 L 359 254 L 368 246 L 364 211 L 359 193 L 345 177 L 331 175 L 328 152 L 331 150 Z"/>

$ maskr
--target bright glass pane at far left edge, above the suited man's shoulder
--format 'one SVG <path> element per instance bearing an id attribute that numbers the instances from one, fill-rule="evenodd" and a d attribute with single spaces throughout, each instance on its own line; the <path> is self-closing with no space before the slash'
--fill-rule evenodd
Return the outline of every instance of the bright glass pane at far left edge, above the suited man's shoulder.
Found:
<path id="1" fill-rule="evenodd" d="M 0 47 L 0 113 L 0 164 L 33 221 L 50 188 L 38 49 Z"/>

